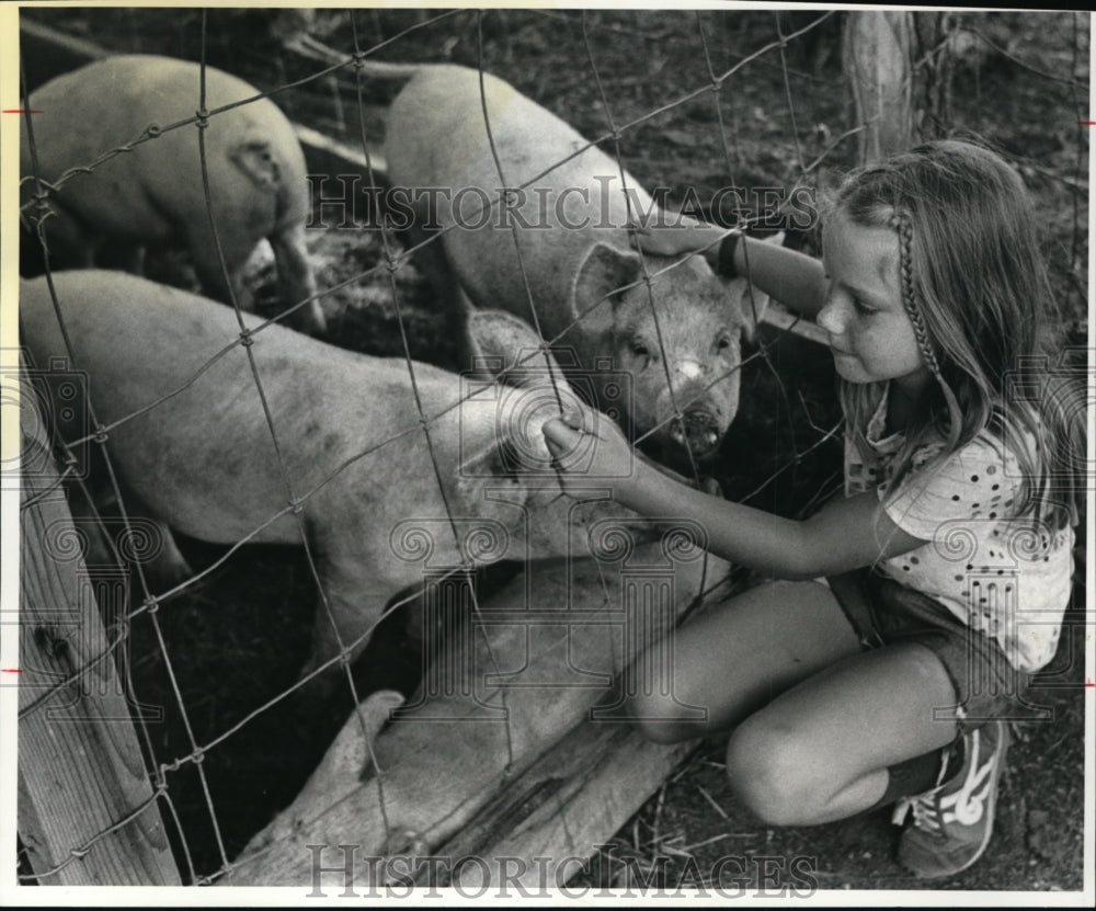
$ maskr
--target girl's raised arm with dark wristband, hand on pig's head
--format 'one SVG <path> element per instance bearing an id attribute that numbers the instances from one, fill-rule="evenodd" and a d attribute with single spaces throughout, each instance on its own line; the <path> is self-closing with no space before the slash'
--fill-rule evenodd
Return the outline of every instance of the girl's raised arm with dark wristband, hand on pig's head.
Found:
<path id="1" fill-rule="evenodd" d="M 737 240 L 728 241 L 735 236 Z M 731 242 L 734 275 L 749 275 L 753 285 L 804 317 L 813 318 L 825 303 L 822 263 L 796 250 L 700 223 L 636 227 L 633 237 L 648 253 L 663 257 L 699 253 L 716 272 L 720 271 L 720 250 L 729 249 L 723 244 Z"/>

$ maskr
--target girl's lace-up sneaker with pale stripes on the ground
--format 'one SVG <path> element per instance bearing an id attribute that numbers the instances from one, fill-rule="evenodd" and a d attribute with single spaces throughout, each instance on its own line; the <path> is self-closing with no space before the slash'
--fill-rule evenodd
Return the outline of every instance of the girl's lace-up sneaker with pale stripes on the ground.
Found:
<path id="1" fill-rule="evenodd" d="M 903 798 L 894 809 L 897 825 L 913 812 L 899 842 L 898 859 L 922 879 L 967 869 L 990 843 L 1008 726 L 990 721 L 964 735 L 962 745 L 962 763 L 955 774 L 946 777 L 950 763 L 945 760 L 936 787 Z"/>

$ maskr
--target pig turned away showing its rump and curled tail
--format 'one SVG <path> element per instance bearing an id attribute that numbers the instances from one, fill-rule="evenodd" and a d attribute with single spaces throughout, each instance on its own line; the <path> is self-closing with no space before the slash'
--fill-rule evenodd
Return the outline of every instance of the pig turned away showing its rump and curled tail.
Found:
<path id="1" fill-rule="evenodd" d="M 164 127 L 193 117 L 199 75 L 201 67 L 189 60 L 126 54 L 95 60 L 32 92 L 35 158 L 24 125 L 22 202 L 36 192 L 34 174 L 47 184 L 58 182 L 69 169 L 134 141 L 150 124 Z M 209 111 L 259 94 L 213 67 L 205 75 Z M 217 237 L 237 299 L 244 300 L 241 272 L 263 238 L 274 250 L 282 303 L 288 307 L 313 297 L 316 280 L 305 247 L 310 196 L 293 125 L 274 102 L 260 99 L 210 116 L 205 150 Z M 204 292 L 230 299 L 209 227 L 193 125 L 71 174 L 48 198 L 56 213 L 44 225 L 53 264 L 85 267 L 109 261 L 141 273 L 146 247 L 184 248 Z M 295 310 L 290 320 L 308 332 L 326 329 L 319 301 Z"/>

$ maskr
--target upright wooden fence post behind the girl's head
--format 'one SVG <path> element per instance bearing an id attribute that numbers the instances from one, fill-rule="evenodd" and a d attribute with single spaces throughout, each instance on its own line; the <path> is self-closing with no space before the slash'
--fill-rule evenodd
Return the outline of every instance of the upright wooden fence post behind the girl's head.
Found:
<path id="1" fill-rule="evenodd" d="M 859 163 L 910 148 L 913 137 L 911 20 L 907 12 L 845 13 L 842 65 L 856 103 Z"/>

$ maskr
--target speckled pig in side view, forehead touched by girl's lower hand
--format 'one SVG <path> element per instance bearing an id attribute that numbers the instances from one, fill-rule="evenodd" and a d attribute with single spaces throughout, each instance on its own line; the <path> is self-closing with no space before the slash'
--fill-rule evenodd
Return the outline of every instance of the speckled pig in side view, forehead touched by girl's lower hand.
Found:
<path id="1" fill-rule="evenodd" d="M 308 546 L 321 610 L 302 676 L 341 651 L 340 638 L 357 657 L 386 604 L 438 568 L 581 556 L 591 523 L 636 519 L 595 499 L 604 492 L 562 496 L 540 428 L 558 413 L 557 395 L 571 407 L 576 399 L 562 383 L 541 388 L 547 367 L 526 371 L 525 386 L 513 387 L 461 383 L 413 363 L 412 388 L 402 358 L 354 353 L 276 323 L 240 344 L 229 308 L 128 273 L 65 271 L 54 283 L 70 366 L 87 375 L 129 514 L 213 544 Z M 516 338 L 509 319 L 502 330 L 484 323 L 478 341 L 500 371 L 515 363 L 495 350 L 499 339 Z M 249 330 L 260 324 L 244 321 Z M 20 324 L 48 378 L 46 367 L 68 351 L 44 277 L 21 284 Z M 525 340 L 536 351 L 532 330 Z M 71 420 L 59 432 L 91 445 L 91 415 L 68 406 Z"/>

